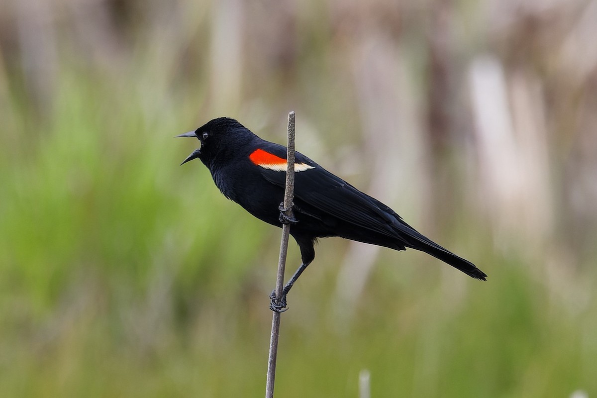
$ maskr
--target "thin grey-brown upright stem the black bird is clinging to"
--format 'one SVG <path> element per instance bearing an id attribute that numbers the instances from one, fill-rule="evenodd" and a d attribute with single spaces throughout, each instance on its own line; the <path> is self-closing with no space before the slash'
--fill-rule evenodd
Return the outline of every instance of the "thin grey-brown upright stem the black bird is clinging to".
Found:
<path id="1" fill-rule="evenodd" d="M 284 193 L 285 214 L 293 218 L 293 196 L 294 196 L 294 112 L 288 113 L 288 152 L 286 169 L 286 190 Z M 280 243 L 280 257 L 278 259 L 278 276 L 276 277 L 276 297 L 282 296 L 284 288 L 284 269 L 286 266 L 286 254 L 288 252 L 288 237 L 290 236 L 290 224 L 282 224 L 282 240 Z M 276 359 L 278 357 L 278 338 L 280 334 L 280 315 L 273 311 L 272 334 L 269 340 L 269 359 L 267 360 L 267 382 L 265 396 L 273 398 L 273 382 L 276 377 Z"/>

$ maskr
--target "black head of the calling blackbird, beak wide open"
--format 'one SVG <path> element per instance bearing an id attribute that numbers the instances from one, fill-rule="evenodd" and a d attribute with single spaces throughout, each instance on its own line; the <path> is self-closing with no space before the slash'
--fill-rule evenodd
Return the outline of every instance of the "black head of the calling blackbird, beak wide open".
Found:
<path id="1" fill-rule="evenodd" d="M 256 137 L 242 124 L 232 118 L 212 119 L 195 131 L 185 132 L 176 137 L 197 138 L 201 147 L 195 149 L 181 165 L 199 158 L 211 169 L 218 160 L 227 161 L 247 141 Z"/>

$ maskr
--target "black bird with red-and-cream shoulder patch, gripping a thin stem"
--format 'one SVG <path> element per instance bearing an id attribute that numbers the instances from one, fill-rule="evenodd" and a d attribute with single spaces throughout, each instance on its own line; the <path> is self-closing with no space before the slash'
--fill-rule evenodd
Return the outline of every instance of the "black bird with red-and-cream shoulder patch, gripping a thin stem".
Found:
<path id="1" fill-rule="evenodd" d="M 235 119 L 217 118 L 177 137 L 196 137 L 201 148 L 184 164 L 199 158 L 210 169 L 226 198 L 266 223 L 281 227 L 291 221 L 290 235 L 300 248 L 303 263 L 284 286 L 282 297 L 272 293 L 270 308 L 286 307 L 286 295 L 315 258 L 318 237 L 340 236 L 395 250 L 417 249 L 476 279 L 487 276 L 470 261 L 421 235 L 396 212 L 362 193 L 307 156 L 296 152 L 294 218 L 280 211 L 286 180 L 286 147 L 261 140 Z"/>

